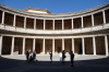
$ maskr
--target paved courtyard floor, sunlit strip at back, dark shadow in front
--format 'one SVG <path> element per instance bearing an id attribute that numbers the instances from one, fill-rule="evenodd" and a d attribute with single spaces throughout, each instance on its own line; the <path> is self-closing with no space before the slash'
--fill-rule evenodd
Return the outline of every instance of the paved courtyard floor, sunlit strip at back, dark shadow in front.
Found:
<path id="1" fill-rule="evenodd" d="M 53 56 L 53 63 L 49 63 L 49 56 L 37 56 L 37 60 L 25 63 L 25 56 L 2 56 L 0 72 L 109 72 L 109 57 L 105 56 L 75 56 L 74 67 L 70 67 L 69 56 L 65 64 L 59 56 Z"/>

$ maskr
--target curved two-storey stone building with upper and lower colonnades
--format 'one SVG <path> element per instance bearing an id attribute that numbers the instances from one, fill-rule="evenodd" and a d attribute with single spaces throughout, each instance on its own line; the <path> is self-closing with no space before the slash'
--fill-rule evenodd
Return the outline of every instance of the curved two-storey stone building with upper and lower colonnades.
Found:
<path id="1" fill-rule="evenodd" d="M 72 50 L 75 55 L 109 56 L 109 3 L 64 14 L 0 4 L 0 56 L 25 55 L 28 49 L 37 55 Z"/>

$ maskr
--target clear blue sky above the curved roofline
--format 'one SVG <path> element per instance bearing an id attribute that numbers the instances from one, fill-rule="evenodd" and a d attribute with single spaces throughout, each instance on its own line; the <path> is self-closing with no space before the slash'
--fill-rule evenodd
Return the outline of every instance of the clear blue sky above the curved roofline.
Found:
<path id="1" fill-rule="evenodd" d="M 51 13 L 84 11 L 105 3 L 109 3 L 109 0 L 0 0 L 0 4 L 14 9 L 47 9 Z"/>

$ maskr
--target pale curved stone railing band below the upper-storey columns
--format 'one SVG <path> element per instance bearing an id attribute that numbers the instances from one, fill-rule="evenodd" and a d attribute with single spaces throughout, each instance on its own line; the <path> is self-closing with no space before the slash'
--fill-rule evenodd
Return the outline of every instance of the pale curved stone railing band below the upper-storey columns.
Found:
<path id="1" fill-rule="evenodd" d="M 109 23 L 92 26 L 92 27 L 83 27 L 83 28 L 74 28 L 74 29 L 59 29 L 59 31 L 33 29 L 33 28 L 23 28 L 23 27 L 15 27 L 15 26 L 0 24 L 0 29 L 19 32 L 19 33 L 29 33 L 29 34 L 76 34 L 76 33 L 100 31 L 100 29 L 106 29 L 106 28 L 109 28 Z"/>

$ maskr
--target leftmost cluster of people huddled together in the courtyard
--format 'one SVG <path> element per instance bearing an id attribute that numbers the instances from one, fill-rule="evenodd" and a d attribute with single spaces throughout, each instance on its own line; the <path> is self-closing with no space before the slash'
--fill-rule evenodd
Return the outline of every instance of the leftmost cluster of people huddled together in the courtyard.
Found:
<path id="1" fill-rule="evenodd" d="M 36 51 L 31 52 L 31 50 L 27 50 L 25 56 L 26 56 L 26 62 L 33 62 L 36 60 Z"/>

